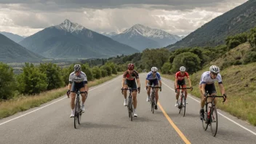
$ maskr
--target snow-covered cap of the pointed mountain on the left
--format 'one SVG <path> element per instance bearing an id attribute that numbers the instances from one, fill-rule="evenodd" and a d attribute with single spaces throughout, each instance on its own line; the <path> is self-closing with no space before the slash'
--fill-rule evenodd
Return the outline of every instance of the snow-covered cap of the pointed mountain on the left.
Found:
<path id="1" fill-rule="evenodd" d="M 60 23 L 60 25 L 55 26 L 58 29 L 68 31 L 68 32 L 79 32 L 84 29 L 84 26 L 79 25 L 77 23 L 72 23 L 70 20 L 66 19 L 63 23 Z"/>

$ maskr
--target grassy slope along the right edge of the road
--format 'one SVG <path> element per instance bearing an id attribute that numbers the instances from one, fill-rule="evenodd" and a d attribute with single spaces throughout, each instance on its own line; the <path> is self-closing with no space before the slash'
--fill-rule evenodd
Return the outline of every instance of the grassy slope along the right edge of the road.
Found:
<path id="1" fill-rule="evenodd" d="M 200 97 L 198 89 L 201 73 L 209 71 L 208 67 L 204 68 L 191 77 L 193 85 L 192 95 Z M 256 126 L 256 63 L 248 65 L 232 65 L 220 71 L 223 78 L 225 93 L 228 95 L 227 101 L 223 104 L 218 100 L 217 107 L 223 111 L 231 113 L 239 119 L 248 121 L 250 124 Z M 163 77 L 170 79 L 173 76 L 163 75 Z M 173 80 L 173 79 L 171 79 Z M 215 84 L 218 95 L 220 89 L 218 84 Z"/>

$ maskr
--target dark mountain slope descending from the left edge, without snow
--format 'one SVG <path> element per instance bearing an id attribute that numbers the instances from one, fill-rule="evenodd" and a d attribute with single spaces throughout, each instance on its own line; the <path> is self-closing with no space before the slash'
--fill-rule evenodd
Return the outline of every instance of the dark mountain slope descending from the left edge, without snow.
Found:
<path id="1" fill-rule="evenodd" d="M 36 55 L 0 33 L 1 62 L 37 62 L 43 58 L 41 55 Z"/>

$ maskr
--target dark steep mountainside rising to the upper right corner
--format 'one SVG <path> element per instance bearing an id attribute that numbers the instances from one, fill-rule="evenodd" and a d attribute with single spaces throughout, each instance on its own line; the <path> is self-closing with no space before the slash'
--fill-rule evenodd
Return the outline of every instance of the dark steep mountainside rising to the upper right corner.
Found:
<path id="1" fill-rule="evenodd" d="M 181 41 L 169 45 L 169 49 L 179 47 L 203 47 L 224 44 L 227 36 L 249 31 L 256 26 L 256 1 L 249 0 L 193 31 Z"/>

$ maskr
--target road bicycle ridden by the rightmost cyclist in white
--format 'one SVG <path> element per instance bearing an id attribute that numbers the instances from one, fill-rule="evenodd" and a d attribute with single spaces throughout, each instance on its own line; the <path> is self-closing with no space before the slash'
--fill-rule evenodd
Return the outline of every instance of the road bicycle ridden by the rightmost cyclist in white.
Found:
<path id="1" fill-rule="evenodd" d="M 209 97 L 212 97 L 212 102 L 209 102 L 211 105 L 209 106 L 208 111 L 208 102 L 207 99 Z M 215 107 L 215 97 L 223 97 L 223 103 L 225 102 L 226 96 L 217 96 L 212 95 L 209 96 L 209 93 L 207 93 L 206 99 L 205 99 L 205 108 L 204 108 L 204 119 L 201 120 L 203 129 L 206 131 L 208 126 L 211 126 L 212 135 L 215 137 L 217 134 L 217 108 Z M 208 112 L 207 112 L 208 111 Z M 215 124 L 215 126 L 213 126 Z"/>

